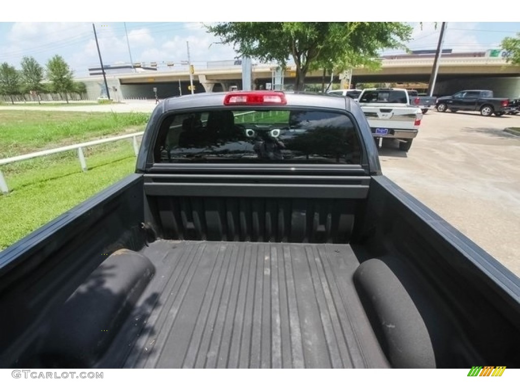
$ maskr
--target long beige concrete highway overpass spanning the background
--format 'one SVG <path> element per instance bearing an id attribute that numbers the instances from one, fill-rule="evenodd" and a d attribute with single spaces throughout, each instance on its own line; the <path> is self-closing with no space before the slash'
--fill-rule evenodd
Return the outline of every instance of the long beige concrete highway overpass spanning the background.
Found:
<path id="1" fill-rule="evenodd" d="M 253 66 L 252 80 L 255 89 L 265 88 L 272 80 L 273 64 Z M 367 68 L 353 70 L 353 83 L 387 82 L 416 83 L 430 80 L 433 58 L 391 58 L 383 59 L 381 69 L 370 71 Z M 285 88 L 291 89 L 294 84 L 294 70 L 285 71 Z M 330 75 L 326 76 L 330 81 Z M 90 76 L 83 79 L 87 85 L 89 98 L 100 95 L 101 76 Z M 165 71 L 148 71 L 141 73 L 125 73 L 107 76 L 111 97 L 120 99 L 147 98 L 153 99 L 153 88 L 157 88 L 159 98 L 189 94 L 188 67 L 184 69 L 168 69 Z M 322 71 L 308 74 L 307 84 L 320 84 Z M 334 82 L 339 77 L 334 76 Z M 233 85 L 242 88 L 242 67 L 226 68 L 195 67 L 193 75 L 195 92 L 218 92 L 229 90 Z M 454 55 L 440 59 L 439 74 L 434 95 L 446 95 L 460 89 L 492 89 L 497 96 L 520 96 L 520 66 L 513 66 L 503 58 L 495 57 L 460 57 Z"/>

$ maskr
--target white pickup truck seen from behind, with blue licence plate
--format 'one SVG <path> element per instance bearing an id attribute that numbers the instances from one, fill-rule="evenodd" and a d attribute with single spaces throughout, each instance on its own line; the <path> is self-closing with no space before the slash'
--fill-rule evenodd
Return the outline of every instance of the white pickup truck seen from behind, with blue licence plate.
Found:
<path id="1" fill-rule="evenodd" d="M 417 106 L 410 105 L 406 89 L 367 88 L 357 100 L 376 141 L 395 138 L 400 150 L 410 150 L 423 114 Z"/>

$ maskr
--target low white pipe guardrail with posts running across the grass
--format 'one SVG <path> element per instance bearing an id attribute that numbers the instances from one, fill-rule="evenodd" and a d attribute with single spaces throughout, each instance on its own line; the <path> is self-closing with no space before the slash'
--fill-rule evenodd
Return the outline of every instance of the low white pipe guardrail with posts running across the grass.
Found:
<path id="1" fill-rule="evenodd" d="M 15 157 L 9 157 L 7 159 L 0 159 L 0 166 L 18 162 L 18 161 L 34 159 L 36 157 L 43 157 L 45 155 L 68 152 L 69 150 L 77 149 L 77 157 L 80 160 L 81 169 L 83 170 L 83 172 L 86 172 L 87 171 L 87 162 L 85 161 L 85 155 L 83 154 L 83 148 L 86 148 L 88 146 L 99 145 L 99 144 L 106 144 L 107 142 L 113 142 L 113 141 L 119 141 L 122 139 L 132 138 L 133 145 L 134 145 L 134 152 L 135 152 L 135 155 L 137 155 L 137 153 L 139 152 L 139 146 L 137 145 L 137 137 L 142 136 L 142 134 L 144 134 L 144 132 L 125 134 L 125 135 L 120 135 L 120 136 L 111 137 L 111 138 L 101 138 L 101 139 L 96 139 L 95 141 L 83 142 L 82 144 L 62 146 L 60 148 L 42 150 L 40 152 L 34 152 L 34 153 L 29 153 L 29 154 L 22 154 L 22 155 L 18 155 Z M 4 175 L 2 174 L 2 171 L 0 171 L 0 191 L 2 191 L 3 193 L 9 192 L 9 188 L 7 187 L 7 183 L 5 181 Z"/>

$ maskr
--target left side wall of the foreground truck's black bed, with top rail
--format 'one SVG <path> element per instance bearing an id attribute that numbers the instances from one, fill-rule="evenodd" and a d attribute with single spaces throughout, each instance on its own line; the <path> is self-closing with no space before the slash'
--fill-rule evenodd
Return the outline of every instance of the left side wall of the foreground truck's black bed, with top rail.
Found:
<path id="1" fill-rule="evenodd" d="M 29 353 L 46 321 L 106 254 L 139 250 L 142 176 L 130 175 L 36 230 L 0 256 L 0 367 Z"/>

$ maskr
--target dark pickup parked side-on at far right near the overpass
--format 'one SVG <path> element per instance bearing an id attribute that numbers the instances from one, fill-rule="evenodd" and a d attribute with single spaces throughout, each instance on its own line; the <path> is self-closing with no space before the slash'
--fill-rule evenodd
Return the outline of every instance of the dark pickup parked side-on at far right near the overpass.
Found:
<path id="1" fill-rule="evenodd" d="M 517 106 L 510 105 L 509 99 L 493 98 L 492 90 L 463 90 L 452 96 L 437 98 L 435 108 L 439 112 L 450 110 L 457 111 L 480 111 L 483 116 L 495 114 L 515 114 L 518 112 Z"/>

